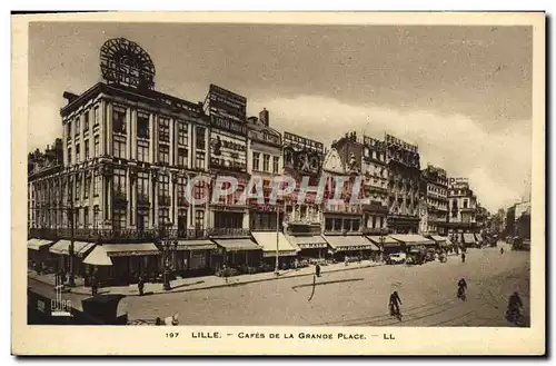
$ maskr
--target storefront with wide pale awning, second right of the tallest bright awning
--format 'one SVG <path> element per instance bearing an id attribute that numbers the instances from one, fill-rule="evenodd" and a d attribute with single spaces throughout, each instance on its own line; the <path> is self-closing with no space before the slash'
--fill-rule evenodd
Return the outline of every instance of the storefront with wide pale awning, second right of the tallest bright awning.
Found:
<path id="1" fill-rule="evenodd" d="M 327 235 L 324 238 L 332 249 L 335 259 L 339 261 L 370 259 L 373 251 L 379 251 L 376 245 L 361 235 Z"/>

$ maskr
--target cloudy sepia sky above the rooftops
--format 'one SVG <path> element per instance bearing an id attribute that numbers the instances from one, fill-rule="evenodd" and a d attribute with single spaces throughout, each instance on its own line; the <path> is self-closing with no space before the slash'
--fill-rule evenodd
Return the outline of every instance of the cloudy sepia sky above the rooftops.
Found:
<path id="1" fill-rule="evenodd" d="M 490 211 L 530 192 L 529 27 L 31 23 L 29 151 L 61 137 L 62 93 L 101 81 L 100 47 L 119 37 L 150 55 L 159 91 L 197 102 L 216 83 L 325 146 L 393 133 Z"/>

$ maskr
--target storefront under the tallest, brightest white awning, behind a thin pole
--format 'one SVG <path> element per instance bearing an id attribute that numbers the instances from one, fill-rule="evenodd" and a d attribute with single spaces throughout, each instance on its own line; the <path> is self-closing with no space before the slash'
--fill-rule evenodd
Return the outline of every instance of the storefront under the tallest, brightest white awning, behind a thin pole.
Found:
<path id="1" fill-rule="evenodd" d="M 278 265 L 280 269 L 295 267 L 298 249 L 294 247 L 282 233 L 254 231 L 252 237 L 262 247 L 262 261 L 269 267 Z"/>

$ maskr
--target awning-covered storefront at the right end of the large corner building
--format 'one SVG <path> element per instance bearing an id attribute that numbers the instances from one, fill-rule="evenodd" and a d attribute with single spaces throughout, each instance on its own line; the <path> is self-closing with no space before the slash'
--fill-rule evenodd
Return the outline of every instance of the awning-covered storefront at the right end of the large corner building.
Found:
<path id="1" fill-rule="evenodd" d="M 182 277 L 212 274 L 215 267 L 211 259 L 217 249 L 211 240 L 178 240 L 173 268 Z"/>

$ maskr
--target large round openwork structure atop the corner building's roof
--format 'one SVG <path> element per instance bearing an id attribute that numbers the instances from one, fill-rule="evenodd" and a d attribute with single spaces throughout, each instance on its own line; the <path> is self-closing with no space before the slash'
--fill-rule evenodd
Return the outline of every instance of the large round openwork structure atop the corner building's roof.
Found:
<path id="1" fill-rule="evenodd" d="M 108 83 L 140 89 L 155 88 L 155 65 L 149 53 L 125 38 L 110 39 L 102 44 L 100 70 Z"/>

